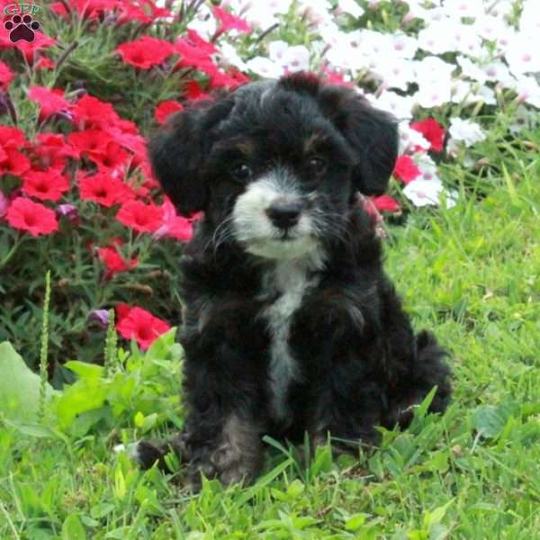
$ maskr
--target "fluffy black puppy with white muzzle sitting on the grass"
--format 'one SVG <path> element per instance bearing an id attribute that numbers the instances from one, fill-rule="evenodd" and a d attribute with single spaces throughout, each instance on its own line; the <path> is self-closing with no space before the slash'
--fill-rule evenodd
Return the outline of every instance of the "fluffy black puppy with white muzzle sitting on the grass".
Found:
<path id="1" fill-rule="evenodd" d="M 150 143 L 178 211 L 203 211 L 180 261 L 184 431 L 139 443 L 144 466 L 169 447 L 200 475 L 252 480 L 265 434 L 339 449 L 406 426 L 437 386 L 446 352 L 410 320 L 383 272 L 357 192 L 383 193 L 397 127 L 355 90 L 310 74 L 251 83 L 177 113 Z M 350 445 L 347 445 L 347 441 Z"/>

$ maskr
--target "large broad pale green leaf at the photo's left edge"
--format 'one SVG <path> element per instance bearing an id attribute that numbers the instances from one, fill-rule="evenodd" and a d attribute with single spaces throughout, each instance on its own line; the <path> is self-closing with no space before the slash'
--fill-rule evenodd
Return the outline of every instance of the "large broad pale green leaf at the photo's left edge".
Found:
<path id="1" fill-rule="evenodd" d="M 40 376 L 31 372 L 11 343 L 0 343 L 0 413 L 7 419 L 34 421 L 40 407 Z M 45 396 L 54 395 L 46 383 Z"/>

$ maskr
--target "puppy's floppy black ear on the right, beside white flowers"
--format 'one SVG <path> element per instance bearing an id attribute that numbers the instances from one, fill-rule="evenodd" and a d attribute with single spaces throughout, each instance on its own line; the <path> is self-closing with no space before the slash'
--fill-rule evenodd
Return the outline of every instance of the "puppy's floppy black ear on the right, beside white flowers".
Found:
<path id="1" fill-rule="evenodd" d="M 366 195 L 384 193 L 398 157 L 397 121 L 351 88 L 320 85 L 318 99 L 356 156 L 356 190 Z"/>

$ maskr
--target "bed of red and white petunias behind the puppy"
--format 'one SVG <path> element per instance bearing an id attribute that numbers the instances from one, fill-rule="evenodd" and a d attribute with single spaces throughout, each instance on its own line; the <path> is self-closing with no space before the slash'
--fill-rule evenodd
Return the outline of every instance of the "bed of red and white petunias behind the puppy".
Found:
<path id="1" fill-rule="evenodd" d="M 0 341 L 35 365 L 50 269 L 57 382 L 67 359 L 99 358 L 109 308 L 140 347 L 179 320 L 198 216 L 160 193 L 145 137 L 189 102 L 298 70 L 355 85 L 400 121 L 392 193 L 374 200 L 393 214 L 486 193 L 509 171 L 482 145 L 511 153 L 537 122 L 532 0 L 74 0 L 32 14 L 31 42 L 14 42 L 13 5 L 0 1 Z M 470 175 L 446 174 L 455 160 Z"/>

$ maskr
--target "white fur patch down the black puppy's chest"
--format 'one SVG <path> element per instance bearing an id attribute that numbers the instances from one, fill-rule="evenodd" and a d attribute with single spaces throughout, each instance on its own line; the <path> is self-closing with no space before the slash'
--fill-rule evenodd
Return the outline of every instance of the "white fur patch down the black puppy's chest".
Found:
<path id="1" fill-rule="evenodd" d="M 313 266 L 298 259 L 279 261 L 263 280 L 262 296 L 279 294 L 263 313 L 271 336 L 269 379 L 277 419 L 283 419 L 287 413 L 289 384 L 302 380 L 289 347 L 289 334 L 293 313 L 300 307 L 302 297 L 320 281 L 319 276 L 311 276 L 310 267 Z"/>

